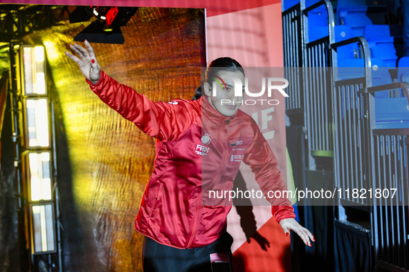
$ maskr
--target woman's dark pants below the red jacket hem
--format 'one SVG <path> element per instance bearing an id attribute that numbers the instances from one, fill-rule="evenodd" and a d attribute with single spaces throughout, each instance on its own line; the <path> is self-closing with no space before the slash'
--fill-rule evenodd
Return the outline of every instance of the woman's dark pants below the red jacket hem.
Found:
<path id="1" fill-rule="evenodd" d="M 233 237 L 227 232 L 207 246 L 176 249 L 144 237 L 142 258 L 144 272 L 230 272 L 233 271 L 231 245 Z M 229 253 L 230 262 L 210 262 L 212 253 Z"/>

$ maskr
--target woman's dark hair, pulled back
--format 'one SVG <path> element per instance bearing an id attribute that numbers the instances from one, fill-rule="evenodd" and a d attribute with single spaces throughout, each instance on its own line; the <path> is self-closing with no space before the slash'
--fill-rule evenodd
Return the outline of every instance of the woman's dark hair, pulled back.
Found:
<path id="1" fill-rule="evenodd" d="M 201 97 L 201 90 L 206 82 L 208 82 L 208 84 L 212 83 L 213 79 L 212 77 L 209 77 L 209 75 L 219 75 L 219 72 L 221 71 L 242 72 L 244 75 L 243 66 L 241 66 L 238 61 L 230 57 L 219 57 L 219 59 L 212 61 L 208 68 L 206 68 L 206 71 L 201 78 L 201 86 L 196 89 L 196 92 L 193 95 L 193 100 Z"/>

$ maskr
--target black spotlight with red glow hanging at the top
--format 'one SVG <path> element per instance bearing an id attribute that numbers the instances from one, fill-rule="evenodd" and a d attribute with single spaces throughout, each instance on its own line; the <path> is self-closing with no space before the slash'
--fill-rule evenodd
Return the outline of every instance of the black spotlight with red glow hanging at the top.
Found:
<path id="1" fill-rule="evenodd" d="M 80 10 L 91 12 L 98 18 L 98 21 L 94 21 L 87 28 L 84 28 L 82 32 L 74 37 L 74 41 L 84 41 L 87 39 L 91 43 L 124 43 L 125 39 L 120 31 L 120 26 L 126 26 L 137 9 L 102 6 L 91 6 L 84 9 L 82 7 Z M 87 18 L 84 17 L 84 21 L 88 21 L 89 19 Z"/>

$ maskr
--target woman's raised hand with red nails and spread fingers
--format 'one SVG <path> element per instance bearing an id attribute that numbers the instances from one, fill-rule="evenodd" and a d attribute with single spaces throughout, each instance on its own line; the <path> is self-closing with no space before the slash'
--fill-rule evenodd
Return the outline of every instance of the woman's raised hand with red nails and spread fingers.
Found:
<path id="1" fill-rule="evenodd" d="M 78 57 L 67 51 L 65 51 L 65 55 L 80 66 L 82 75 L 84 75 L 86 79 L 91 81 L 93 84 L 96 84 L 98 79 L 100 79 L 101 68 L 98 64 L 91 44 L 89 44 L 87 40 L 85 40 L 84 43 L 87 49 L 82 48 L 82 46 L 78 45 L 77 43 L 74 43 L 74 45 L 70 44 L 71 50 L 77 53 Z"/>

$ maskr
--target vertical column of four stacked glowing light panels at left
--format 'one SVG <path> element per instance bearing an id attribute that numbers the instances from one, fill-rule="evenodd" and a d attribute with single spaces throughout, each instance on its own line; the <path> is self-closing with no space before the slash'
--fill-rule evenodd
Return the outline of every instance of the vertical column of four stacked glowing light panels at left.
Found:
<path id="1" fill-rule="evenodd" d="M 20 73 L 17 88 L 22 106 L 21 124 L 24 126 L 24 141 L 21 144 L 22 179 L 20 191 L 24 198 L 25 224 L 30 232 L 31 260 L 36 262 L 36 271 L 42 267 L 61 264 L 59 207 L 57 182 L 53 179 L 53 130 L 51 108 L 53 104 L 46 88 L 46 54 L 44 46 L 23 45 L 19 48 Z M 21 131 L 21 130 L 20 130 Z M 58 253 L 55 261 L 53 253 Z M 33 255 L 42 255 L 33 258 Z M 46 265 L 46 261 L 48 264 Z M 44 261 L 44 262 L 43 262 Z"/>

